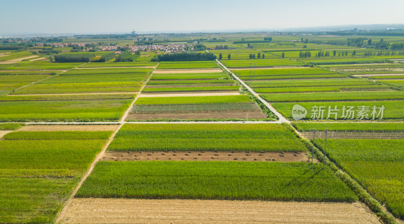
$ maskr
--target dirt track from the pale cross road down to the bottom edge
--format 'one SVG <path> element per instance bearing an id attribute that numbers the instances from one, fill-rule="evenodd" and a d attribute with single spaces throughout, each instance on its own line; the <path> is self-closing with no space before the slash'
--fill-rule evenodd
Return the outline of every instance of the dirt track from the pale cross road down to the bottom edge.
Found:
<path id="1" fill-rule="evenodd" d="M 114 140 L 115 135 L 118 133 L 119 129 L 121 129 L 121 127 L 123 126 L 123 124 L 121 124 L 117 130 L 110 136 L 110 138 L 108 139 L 108 142 L 105 144 L 103 150 L 101 150 L 98 155 L 95 157 L 94 161 L 92 161 L 90 167 L 88 168 L 87 172 L 84 174 L 84 176 L 81 178 L 79 184 L 76 186 L 76 188 L 74 189 L 73 193 L 70 195 L 69 199 L 67 199 L 65 206 L 62 208 L 62 210 L 59 212 L 57 219 L 55 221 L 55 223 L 59 223 L 61 221 L 61 219 L 63 218 L 63 216 L 66 214 L 68 207 L 71 205 L 74 196 L 76 195 L 77 191 L 80 189 L 81 185 L 84 183 L 84 181 L 87 179 L 87 177 L 91 174 L 92 170 L 95 167 L 95 164 L 102 159 L 102 157 L 105 154 L 105 151 L 107 151 L 108 146 L 111 144 L 111 142 Z"/>

